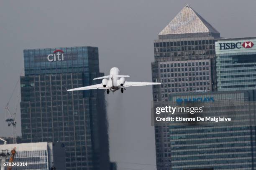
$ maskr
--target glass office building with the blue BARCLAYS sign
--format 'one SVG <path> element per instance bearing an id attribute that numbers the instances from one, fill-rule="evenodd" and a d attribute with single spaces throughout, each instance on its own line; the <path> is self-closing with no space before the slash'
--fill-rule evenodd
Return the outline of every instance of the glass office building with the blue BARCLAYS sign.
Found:
<path id="1" fill-rule="evenodd" d="M 211 100 L 202 100 L 210 98 Z M 256 162 L 256 90 L 190 92 L 169 96 L 171 105 L 196 103 L 207 116 L 230 117 L 232 122 L 170 125 L 172 170 L 212 168 L 252 170 Z M 195 117 L 200 114 L 195 113 Z"/>

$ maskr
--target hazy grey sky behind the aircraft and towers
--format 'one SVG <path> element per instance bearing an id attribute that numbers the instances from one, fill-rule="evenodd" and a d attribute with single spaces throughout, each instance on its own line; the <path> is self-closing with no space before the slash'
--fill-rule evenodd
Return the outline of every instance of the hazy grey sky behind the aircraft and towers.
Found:
<path id="1" fill-rule="evenodd" d="M 256 37 L 255 0 L 0 0 L 0 136 L 12 134 L 4 107 L 23 69 L 23 49 L 97 46 L 105 75 L 119 67 L 128 80 L 151 81 L 153 40 L 186 4 L 222 37 Z M 151 87 L 106 98 L 111 160 L 119 170 L 155 170 Z M 17 121 L 20 135 L 19 110 Z"/>

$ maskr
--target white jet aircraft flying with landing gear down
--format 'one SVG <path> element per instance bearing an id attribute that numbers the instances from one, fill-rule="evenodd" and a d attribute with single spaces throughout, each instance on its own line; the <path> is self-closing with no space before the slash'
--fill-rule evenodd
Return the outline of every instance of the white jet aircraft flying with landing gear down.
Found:
<path id="1" fill-rule="evenodd" d="M 125 87 L 130 86 L 143 86 L 143 85 L 160 85 L 161 82 L 128 82 L 125 81 L 124 77 L 130 77 L 129 75 L 119 75 L 120 70 L 117 67 L 113 67 L 110 70 L 110 75 L 106 75 L 103 77 L 97 77 L 93 80 L 102 79 L 102 83 L 97 85 L 89 85 L 85 87 L 78 87 L 74 89 L 69 89 L 67 91 L 75 91 L 75 90 L 91 90 L 91 89 L 105 89 L 107 90 L 107 93 L 115 92 L 118 89 L 121 89 L 121 92 L 123 93 L 123 90 L 126 90 Z M 109 80 L 107 80 L 109 78 Z"/>

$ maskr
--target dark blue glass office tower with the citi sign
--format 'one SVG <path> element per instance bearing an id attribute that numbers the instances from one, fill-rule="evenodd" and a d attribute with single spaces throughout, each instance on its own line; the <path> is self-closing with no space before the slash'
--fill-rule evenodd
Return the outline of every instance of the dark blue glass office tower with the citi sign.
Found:
<path id="1" fill-rule="evenodd" d="M 24 143 L 63 142 L 67 170 L 109 168 L 104 92 L 67 92 L 96 84 L 97 47 L 24 50 L 20 77 L 21 130 Z"/>

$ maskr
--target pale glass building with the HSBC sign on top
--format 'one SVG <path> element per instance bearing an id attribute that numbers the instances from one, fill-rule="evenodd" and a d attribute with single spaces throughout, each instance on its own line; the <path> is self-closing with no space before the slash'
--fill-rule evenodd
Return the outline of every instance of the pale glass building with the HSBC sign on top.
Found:
<path id="1" fill-rule="evenodd" d="M 218 91 L 256 88 L 256 37 L 215 42 Z"/>

